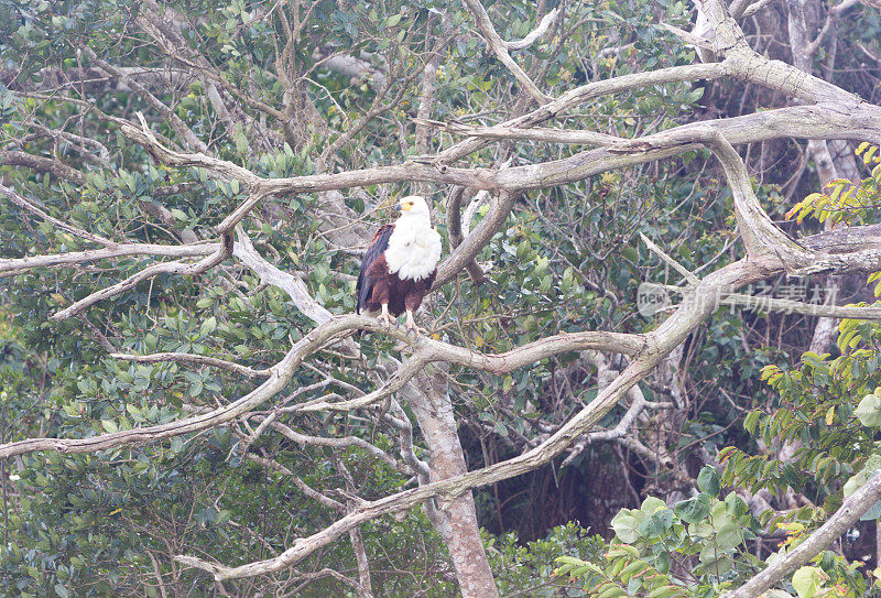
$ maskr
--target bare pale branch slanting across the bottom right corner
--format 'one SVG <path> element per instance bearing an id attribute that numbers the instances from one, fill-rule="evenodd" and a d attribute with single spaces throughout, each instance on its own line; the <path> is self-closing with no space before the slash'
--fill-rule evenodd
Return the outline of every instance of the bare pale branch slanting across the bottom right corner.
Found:
<path id="1" fill-rule="evenodd" d="M 739 588 L 722 594 L 722 598 L 757 598 L 775 586 L 786 575 L 804 565 L 850 530 L 875 502 L 881 500 L 881 475 L 875 474 L 866 486 L 845 499 L 833 517 L 807 540 L 780 557 Z"/>

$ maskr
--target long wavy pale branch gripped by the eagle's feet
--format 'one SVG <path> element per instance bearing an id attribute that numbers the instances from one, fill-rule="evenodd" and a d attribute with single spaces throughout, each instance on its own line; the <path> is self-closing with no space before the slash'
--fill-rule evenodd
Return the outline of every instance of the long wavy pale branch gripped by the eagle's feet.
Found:
<path id="1" fill-rule="evenodd" d="M 90 438 L 30 438 L 7 443 L 0 445 L 0 458 L 37 450 L 56 450 L 64 454 L 94 453 L 117 446 L 134 445 L 191 434 L 222 425 L 253 411 L 260 404 L 275 396 L 293 379 L 294 372 L 307 357 L 325 347 L 328 343 L 344 338 L 355 330 L 385 333 L 392 338 L 412 345 L 414 350 L 420 350 L 421 347 L 424 347 L 423 350 L 427 351 L 433 360 L 449 360 L 453 363 L 501 373 L 525 367 L 545 357 L 581 348 L 597 348 L 599 350 L 633 355 L 650 347 L 648 341 L 640 335 L 573 333 L 548 337 L 505 354 L 485 355 L 424 336 L 413 339 L 412 335 L 407 336 L 406 331 L 402 329 L 392 328 L 387 330 L 382 324 L 368 316 L 336 316 L 317 326 L 294 344 L 284 358 L 273 366 L 273 376 L 265 382 L 227 405 L 167 424 L 124 430 Z"/>

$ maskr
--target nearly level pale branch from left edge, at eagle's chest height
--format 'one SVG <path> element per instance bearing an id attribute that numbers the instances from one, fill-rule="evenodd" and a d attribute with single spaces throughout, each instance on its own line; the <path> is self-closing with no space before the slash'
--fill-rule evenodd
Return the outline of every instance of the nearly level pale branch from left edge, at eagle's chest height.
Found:
<path id="1" fill-rule="evenodd" d="M 155 255 L 162 258 L 198 258 L 217 252 L 220 243 L 199 244 L 152 244 L 120 243 L 87 251 L 70 251 L 48 255 L 30 255 L 26 258 L 0 259 L 0 278 L 19 274 L 34 268 L 58 268 L 99 260 L 128 258 L 131 255 Z"/>

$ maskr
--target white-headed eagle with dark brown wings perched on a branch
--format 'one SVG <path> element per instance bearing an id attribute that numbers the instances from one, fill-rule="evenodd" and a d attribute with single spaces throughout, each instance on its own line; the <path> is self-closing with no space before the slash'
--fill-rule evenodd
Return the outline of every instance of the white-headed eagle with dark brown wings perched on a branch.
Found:
<path id="1" fill-rule="evenodd" d="M 418 335 L 413 312 L 432 289 L 440 259 L 440 235 L 432 228 L 425 198 L 410 195 L 394 209 L 401 216 L 373 235 L 361 262 L 356 294 L 356 312 L 377 316 L 391 328 L 392 319 L 406 312 L 407 331 Z"/>

